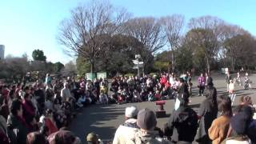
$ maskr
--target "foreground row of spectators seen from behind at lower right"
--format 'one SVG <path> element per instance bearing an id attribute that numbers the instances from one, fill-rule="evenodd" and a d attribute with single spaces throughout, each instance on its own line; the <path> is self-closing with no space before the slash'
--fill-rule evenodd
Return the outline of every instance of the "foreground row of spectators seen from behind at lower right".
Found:
<path id="1" fill-rule="evenodd" d="M 249 96 L 242 96 L 233 110 L 230 97 L 217 96 L 214 86 L 206 87 L 206 98 L 198 113 L 182 99 L 162 129 L 152 110 L 126 108 L 125 118 L 114 134 L 114 144 L 254 144 L 256 143 L 255 108 Z"/>

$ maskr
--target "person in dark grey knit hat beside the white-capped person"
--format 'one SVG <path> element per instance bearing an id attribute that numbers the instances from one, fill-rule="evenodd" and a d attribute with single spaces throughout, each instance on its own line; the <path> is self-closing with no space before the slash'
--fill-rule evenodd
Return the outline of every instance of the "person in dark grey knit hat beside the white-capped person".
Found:
<path id="1" fill-rule="evenodd" d="M 160 138 L 159 132 L 154 131 L 157 126 L 157 119 L 155 117 L 154 111 L 150 109 L 142 109 L 138 112 L 137 125 L 140 129 L 136 132 L 134 143 L 142 144 L 166 144 L 169 141 Z"/>

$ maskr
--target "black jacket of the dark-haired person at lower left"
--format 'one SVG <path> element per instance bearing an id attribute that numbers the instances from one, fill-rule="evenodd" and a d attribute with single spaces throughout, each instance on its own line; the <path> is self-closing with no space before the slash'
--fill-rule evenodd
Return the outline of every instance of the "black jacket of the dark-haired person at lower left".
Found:
<path id="1" fill-rule="evenodd" d="M 26 135 L 29 133 L 26 122 L 18 116 L 10 114 L 7 119 L 7 134 L 11 143 L 26 144 Z"/>

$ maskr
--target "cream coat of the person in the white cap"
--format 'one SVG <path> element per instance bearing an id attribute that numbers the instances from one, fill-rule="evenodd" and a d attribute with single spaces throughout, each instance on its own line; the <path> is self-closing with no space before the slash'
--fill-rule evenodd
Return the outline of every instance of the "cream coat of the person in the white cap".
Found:
<path id="1" fill-rule="evenodd" d="M 122 143 L 133 143 L 136 132 L 138 132 L 138 126 L 136 124 L 136 119 L 128 119 L 122 125 L 120 125 L 114 134 L 113 144 Z"/>

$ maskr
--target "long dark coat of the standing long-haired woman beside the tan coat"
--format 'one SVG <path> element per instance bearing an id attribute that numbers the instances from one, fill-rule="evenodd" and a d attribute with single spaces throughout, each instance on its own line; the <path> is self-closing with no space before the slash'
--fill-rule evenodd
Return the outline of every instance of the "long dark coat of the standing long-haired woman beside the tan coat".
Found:
<path id="1" fill-rule="evenodd" d="M 213 106 L 210 99 L 206 99 L 202 102 L 199 108 L 198 116 L 202 117 L 199 122 L 197 142 L 209 143 L 210 138 L 208 136 L 208 129 L 211 123 L 217 118 L 218 106 Z"/>

